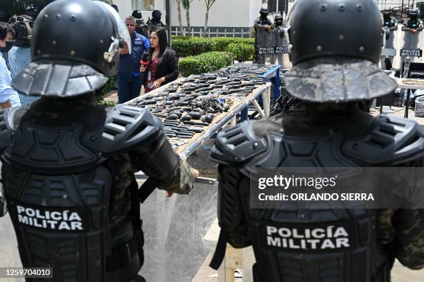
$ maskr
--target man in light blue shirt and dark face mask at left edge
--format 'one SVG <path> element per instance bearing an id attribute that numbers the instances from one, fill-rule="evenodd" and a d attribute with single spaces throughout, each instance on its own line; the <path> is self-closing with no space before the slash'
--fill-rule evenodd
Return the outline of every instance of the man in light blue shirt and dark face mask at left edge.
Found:
<path id="1" fill-rule="evenodd" d="M 17 91 L 10 86 L 10 71 L 1 51 L 8 51 L 12 46 L 12 27 L 5 22 L 0 22 L 0 109 L 19 107 Z"/>

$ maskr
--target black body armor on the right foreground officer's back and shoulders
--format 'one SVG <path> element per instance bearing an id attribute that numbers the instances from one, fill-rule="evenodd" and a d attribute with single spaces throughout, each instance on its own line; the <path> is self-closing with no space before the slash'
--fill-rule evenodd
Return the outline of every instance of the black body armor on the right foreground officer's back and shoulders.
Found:
<path id="1" fill-rule="evenodd" d="M 228 242 L 253 246 L 255 282 L 390 281 L 394 255 L 378 240 L 377 210 L 251 209 L 249 178 L 261 167 L 403 166 L 423 158 L 423 141 L 414 121 L 359 110 L 313 118 L 293 111 L 220 132 L 211 151 L 221 227 L 211 267 Z"/>

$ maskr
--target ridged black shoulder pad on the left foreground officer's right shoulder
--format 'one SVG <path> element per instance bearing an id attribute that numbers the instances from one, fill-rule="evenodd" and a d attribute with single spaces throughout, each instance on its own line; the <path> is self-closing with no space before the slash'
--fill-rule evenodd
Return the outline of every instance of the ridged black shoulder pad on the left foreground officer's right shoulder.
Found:
<path id="1" fill-rule="evenodd" d="M 161 130 L 161 122 L 147 109 L 116 105 L 106 116 L 100 150 L 115 152 L 152 141 Z"/>

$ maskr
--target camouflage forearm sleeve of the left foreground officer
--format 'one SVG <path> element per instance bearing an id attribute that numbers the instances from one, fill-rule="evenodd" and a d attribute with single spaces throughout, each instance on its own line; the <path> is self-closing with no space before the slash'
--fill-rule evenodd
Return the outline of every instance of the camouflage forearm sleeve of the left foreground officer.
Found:
<path id="1" fill-rule="evenodd" d="M 157 188 L 172 193 L 188 194 L 193 190 L 195 181 L 194 171 L 186 161 L 180 158 L 178 159 L 179 164 L 175 167 L 172 175 L 159 183 Z"/>

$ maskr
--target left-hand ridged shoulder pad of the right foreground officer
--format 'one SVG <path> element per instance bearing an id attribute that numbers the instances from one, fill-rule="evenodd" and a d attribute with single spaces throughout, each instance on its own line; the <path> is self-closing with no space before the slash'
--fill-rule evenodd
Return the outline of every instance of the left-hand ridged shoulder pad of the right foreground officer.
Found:
<path id="1" fill-rule="evenodd" d="M 220 164 L 241 163 L 267 149 L 263 138 L 257 138 L 251 129 L 255 121 L 245 121 L 222 130 L 215 139 L 211 159 Z"/>

